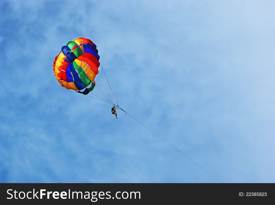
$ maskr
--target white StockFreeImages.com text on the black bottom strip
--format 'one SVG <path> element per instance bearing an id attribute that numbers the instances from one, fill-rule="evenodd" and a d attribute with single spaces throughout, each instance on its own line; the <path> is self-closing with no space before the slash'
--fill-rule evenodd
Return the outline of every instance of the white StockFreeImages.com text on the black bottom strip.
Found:
<path id="1" fill-rule="evenodd" d="M 75 192 L 70 189 L 68 192 L 49 192 L 46 189 L 29 192 L 18 192 L 16 190 L 7 190 L 7 199 L 90 199 L 91 202 L 97 202 L 98 199 L 140 199 L 140 192 L 116 192 L 111 196 L 111 192 Z"/>

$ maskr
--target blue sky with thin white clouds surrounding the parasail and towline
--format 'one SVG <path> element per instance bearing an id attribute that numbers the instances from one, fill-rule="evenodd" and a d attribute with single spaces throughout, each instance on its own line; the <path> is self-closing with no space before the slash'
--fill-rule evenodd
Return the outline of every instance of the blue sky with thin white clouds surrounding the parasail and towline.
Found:
<path id="1" fill-rule="evenodd" d="M 1 1 L 1 183 L 217 183 L 123 112 L 62 88 L 92 39 L 120 106 L 226 183 L 275 182 L 274 1 Z"/>

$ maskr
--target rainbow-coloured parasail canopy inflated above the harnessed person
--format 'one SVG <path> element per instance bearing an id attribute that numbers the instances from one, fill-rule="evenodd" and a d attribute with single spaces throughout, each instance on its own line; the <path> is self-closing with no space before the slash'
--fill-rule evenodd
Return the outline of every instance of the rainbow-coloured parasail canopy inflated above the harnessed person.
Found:
<path id="1" fill-rule="evenodd" d="M 62 87 L 87 95 L 95 87 L 99 65 L 97 46 L 80 37 L 61 48 L 53 61 L 53 73 Z"/>

